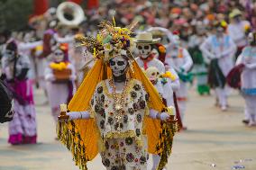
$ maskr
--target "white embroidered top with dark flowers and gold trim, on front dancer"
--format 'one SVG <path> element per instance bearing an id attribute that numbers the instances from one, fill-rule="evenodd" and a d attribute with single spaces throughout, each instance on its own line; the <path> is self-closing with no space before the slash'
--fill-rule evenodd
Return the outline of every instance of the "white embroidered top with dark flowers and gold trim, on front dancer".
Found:
<path id="1" fill-rule="evenodd" d="M 137 144 L 142 147 L 143 119 L 149 112 L 148 94 L 135 79 L 129 81 L 124 88 L 122 111 L 114 108 L 114 94 L 109 92 L 109 80 L 102 81 L 96 86 L 91 109 L 95 112 L 94 117 L 102 139 L 134 137 Z M 122 96 L 116 94 L 116 97 L 120 100 Z"/>

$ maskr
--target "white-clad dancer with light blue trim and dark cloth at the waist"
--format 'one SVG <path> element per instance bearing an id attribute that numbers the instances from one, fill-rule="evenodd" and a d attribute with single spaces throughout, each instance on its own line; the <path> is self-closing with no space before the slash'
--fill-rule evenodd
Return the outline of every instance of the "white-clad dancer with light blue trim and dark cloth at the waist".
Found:
<path id="1" fill-rule="evenodd" d="M 208 83 L 215 88 L 217 104 L 222 111 L 227 110 L 228 86 L 225 78 L 233 68 L 233 56 L 236 46 L 231 37 L 224 33 L 225 22 L 215 22 L 215 33 L 209 36 L 200 49 L 211 60 L 209 66 Z"/>

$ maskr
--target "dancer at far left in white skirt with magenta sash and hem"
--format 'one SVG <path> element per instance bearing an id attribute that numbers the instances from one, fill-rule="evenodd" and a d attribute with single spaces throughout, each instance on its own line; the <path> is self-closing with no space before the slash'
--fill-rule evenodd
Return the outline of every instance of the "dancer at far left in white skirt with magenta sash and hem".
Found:
<path id="1" fill-rule="evenodd" d="M 28 57 L 18 53 L 14 41 L 7 43 L 2 58 L 6 83 L 14 95 L 14 120 L 9 122 L 9 139 L 12 145 L 36 143 L 36 120 L 32 94 L 32 81 L 27 74 L 30 69 Z"/>

